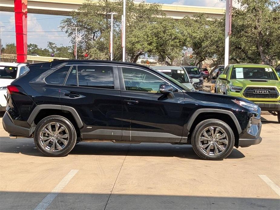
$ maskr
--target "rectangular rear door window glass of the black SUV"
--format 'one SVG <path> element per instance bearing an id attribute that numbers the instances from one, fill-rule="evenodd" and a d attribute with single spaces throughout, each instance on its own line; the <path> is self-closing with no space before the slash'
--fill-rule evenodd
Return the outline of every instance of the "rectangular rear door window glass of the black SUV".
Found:
<path id="1" fill-rule="evenodd" d="M 78 86 L 114 89 L 113 67 L 77 65 Z"/>

